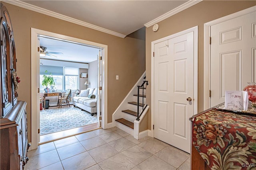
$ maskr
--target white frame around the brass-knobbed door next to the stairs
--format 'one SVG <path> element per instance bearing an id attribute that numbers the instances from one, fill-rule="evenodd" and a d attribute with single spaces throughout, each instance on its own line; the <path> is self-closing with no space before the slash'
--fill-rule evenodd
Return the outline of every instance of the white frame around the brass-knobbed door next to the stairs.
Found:
<path id="1" fill-rule="evenodd" d="M 197 114 L 198 110 L 198 26 L 180 31 L 178 33 L 169 35 L 167 37 L 155 40 L 151 42 L 151 131 L 148 133 L 150 137 L 154 137 L 154 45 L 174 37 L 178 37 L 182 34 L 190 33 L 194 31 L 194 114 Z"/>

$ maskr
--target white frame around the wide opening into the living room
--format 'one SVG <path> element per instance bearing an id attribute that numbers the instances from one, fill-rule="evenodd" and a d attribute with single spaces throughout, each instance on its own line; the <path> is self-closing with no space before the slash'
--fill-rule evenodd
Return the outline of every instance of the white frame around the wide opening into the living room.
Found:
<path id="1" fill-rule="evenodd" d="M 84 43 L 96 47 L 102 48 L 102 128 L 106 129 L 108 124 L 108 46 L 104 44 L 94 43 L 83 39 L 69 37 L 57 33 L 43 31 L 40 29 L 31 28 L 31 149 L 38 147 L 38 111 L 39 110 L 39 93 L 38 93 L 38 75 L 39 75 L 39 58 L 37 51 L 38 35 L 46 35 L 50 37 L 56 37 L 65 39 L 68 41 L 74 41 L 78 43 Z M 37 71 L 35 71 L 37 70 Z"/>

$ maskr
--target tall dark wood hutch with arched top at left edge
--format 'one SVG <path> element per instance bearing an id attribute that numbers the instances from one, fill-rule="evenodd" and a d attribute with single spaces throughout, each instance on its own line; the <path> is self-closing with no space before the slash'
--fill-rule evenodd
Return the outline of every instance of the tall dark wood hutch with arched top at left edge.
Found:
<path id="1" fill-rule="evenodd" d="M 14 33 L 10 16 L 1 3 L 0 49 L 0 169 L 26 169 L 28 134 L 26 102 L 18 101 Z"/>

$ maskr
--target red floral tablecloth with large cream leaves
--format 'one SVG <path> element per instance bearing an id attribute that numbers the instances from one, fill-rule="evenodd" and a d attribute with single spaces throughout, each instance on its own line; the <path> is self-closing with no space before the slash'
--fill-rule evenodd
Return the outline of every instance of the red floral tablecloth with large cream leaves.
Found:
<path id="1" fill-rule="evenodd" d="M 256 169 L 256 116 L 212 109 L 194 118 L 192 138 L 212 170 Z"/>

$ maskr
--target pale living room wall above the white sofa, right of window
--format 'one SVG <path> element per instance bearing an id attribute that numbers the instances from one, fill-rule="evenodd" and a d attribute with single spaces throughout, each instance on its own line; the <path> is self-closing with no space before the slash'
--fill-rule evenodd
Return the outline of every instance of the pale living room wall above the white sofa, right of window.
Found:
<path id="1" fill-rule="evenodd" d="M 89 87 L 96 88 L 98 86 L 98 60 L 93 61 L 89 63 L 89 69 L 88 69 L 88 81 L 89 81 Z"/>

